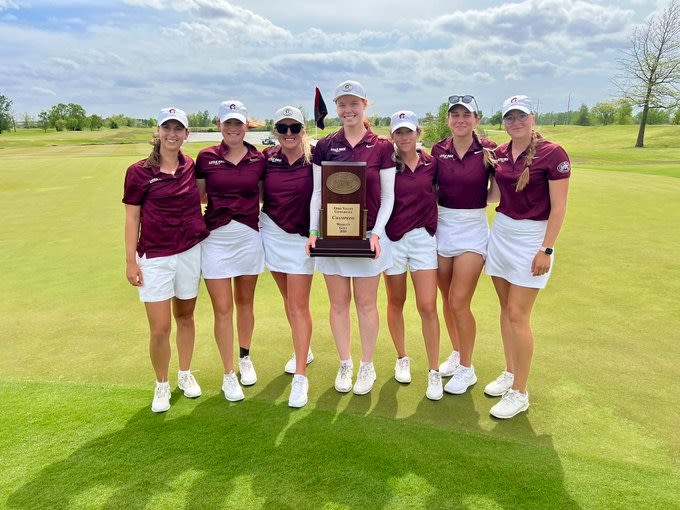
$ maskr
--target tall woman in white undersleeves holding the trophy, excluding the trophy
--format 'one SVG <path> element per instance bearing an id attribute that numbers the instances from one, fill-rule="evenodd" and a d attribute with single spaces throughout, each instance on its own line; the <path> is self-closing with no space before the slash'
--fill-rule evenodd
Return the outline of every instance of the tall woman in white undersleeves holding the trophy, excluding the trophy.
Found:
<path id="1" fill-rule="evenodd" d="M 354 386 L 356 395 L 371 391 L 376 379 L 373 354 L 378 339 L 378 283 L 380 273 L 392 265 L 385 225 L 394 204 L 394 161 L 392 144 L 378 138 L 369 128 L 364 113 L 368 106 L 363 86 L 347 80 L 335 89 L 335 107 L 342 128 L 316 144 L 313 158 L 314 193 L 310 204 L 309 245 L 315 247 L 321 207 L 321 162 L 363 161 L 366 163 L 366 235 L 375 258 L 318 257 L 317 271 L 323 273 L 331 302 L 330 324 L 340 356 L 335 389 L 352 389 L 354 364 L 350 351 L 349 306 L 354 303 L 361 336 L 361 364 Z"/>

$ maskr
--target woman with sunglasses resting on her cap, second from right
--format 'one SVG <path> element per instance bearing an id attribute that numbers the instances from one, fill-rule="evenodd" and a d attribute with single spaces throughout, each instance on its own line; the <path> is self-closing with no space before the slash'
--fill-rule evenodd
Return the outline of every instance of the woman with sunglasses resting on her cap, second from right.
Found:
<path id="1" fill-rule="evenodd" d="M 477 382 L 472 351 L 477 324 L 470 309 L 484 266 L 489 238 L 487 201 L 497 201 L 491 148 L 496 144 L 480 140 L 477 101 L 470 95 L 449 97 L 448 124 L 451 137 L 432 147 L 438 163 L 439 287 L 444 302 L 444 319 L 453 352 L 439 367 L 442 376 L 452 376 L 444 391 L 462 394 Z M 458 344 L 458 345 L 456 345 Z"/>

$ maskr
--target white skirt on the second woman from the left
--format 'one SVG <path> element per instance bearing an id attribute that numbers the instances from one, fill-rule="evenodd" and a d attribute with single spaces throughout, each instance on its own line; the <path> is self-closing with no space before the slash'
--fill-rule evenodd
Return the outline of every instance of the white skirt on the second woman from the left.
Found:
<path id="1" fill-rule="evenodd" d="M 203 278 L 232 278 L 264 271 L 260 232 L 232 220 L 201 242 Z"/>

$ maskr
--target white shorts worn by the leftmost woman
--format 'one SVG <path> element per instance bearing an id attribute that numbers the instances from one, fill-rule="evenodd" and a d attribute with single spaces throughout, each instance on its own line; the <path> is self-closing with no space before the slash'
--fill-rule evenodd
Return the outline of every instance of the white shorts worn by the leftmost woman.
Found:
<path id="1" fill-rule="evenodd" d="M 139 300 L 155 303 L 176 297 L 193 299 L 198 296 L 201 282 L 201 246 L 197 244 L 177 255 L 147 259 L 137 257 L 143 284 L 137 287 Z"/>

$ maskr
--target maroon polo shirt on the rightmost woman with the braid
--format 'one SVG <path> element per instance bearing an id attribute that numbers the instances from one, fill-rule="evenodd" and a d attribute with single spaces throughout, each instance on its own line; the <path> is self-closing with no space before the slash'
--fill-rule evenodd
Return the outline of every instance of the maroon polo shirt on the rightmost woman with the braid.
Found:
<path id="1" fill-rule="evenodd" d="M 556 143 L 540 139 L 529 169 L 529 184 L 515 191 L 515 184 L 524 170 L 526 151 L 512 160 L 512 141 L 496 149 L 496 182 L 501 190 L 501 202 L 496 211 L 516 220 L 547 220 L 550 216 L 548 181 L 567 179 L 571 175 L 569 156 Z"/>

